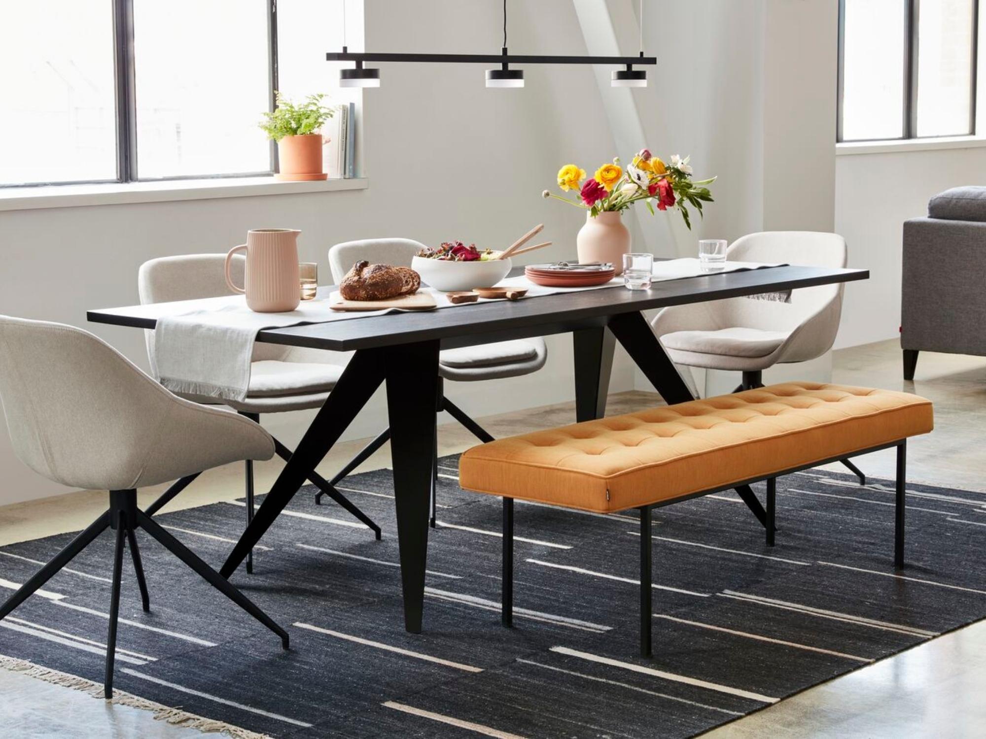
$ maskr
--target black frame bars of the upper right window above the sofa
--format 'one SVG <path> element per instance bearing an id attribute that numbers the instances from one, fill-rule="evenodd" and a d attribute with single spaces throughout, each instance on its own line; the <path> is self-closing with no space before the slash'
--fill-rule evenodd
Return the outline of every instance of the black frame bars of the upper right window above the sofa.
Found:
<path id="1" fill-rule="evenodd" d="M 838 95 L 836 104 L 835 141 L 838 144 L 863 144 L 873 141 L 913 141 L 951 138 L 955 136 L 976 135 L 976 98 L 979 69 L 979 0 L 972 0 L 972 74 L 969 84 L 969 127 L 965 133 L 941 134 L 938 136 L 918 136 L 918 52 L 920 38 L 918 29 L 921 19 L 922 0 L 903 0 L 904 3 L 904 57 L 901 74 L 904 80 L 903 106 L 901 110 L 901 135 L 894 138 L 845 139 L 842 133 L 842 114 L 845 102 L 845 41 L 846 41 L 846 0 L 839 0 L 839 66 Z M 934 0 L 933 0 L 934 1 Z"/>

